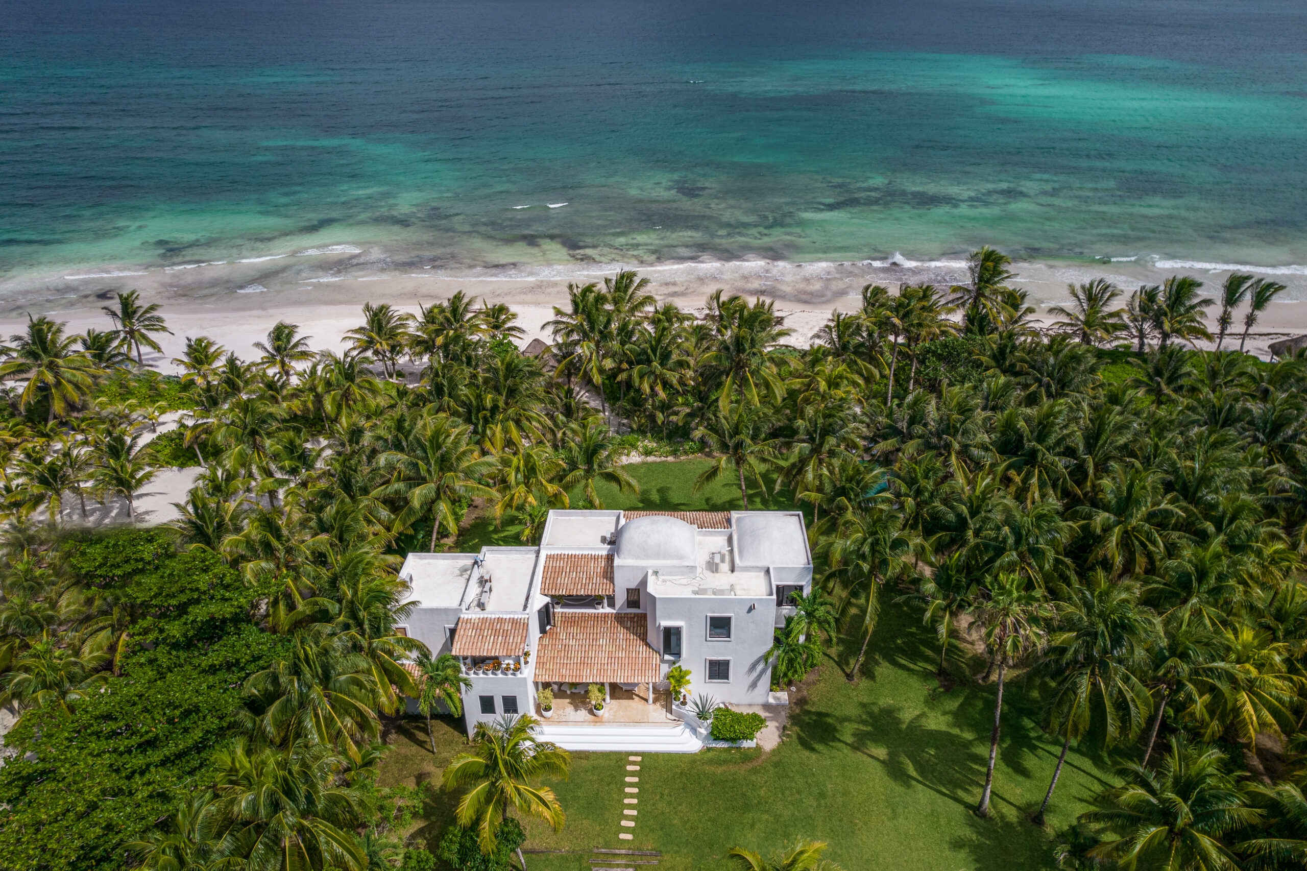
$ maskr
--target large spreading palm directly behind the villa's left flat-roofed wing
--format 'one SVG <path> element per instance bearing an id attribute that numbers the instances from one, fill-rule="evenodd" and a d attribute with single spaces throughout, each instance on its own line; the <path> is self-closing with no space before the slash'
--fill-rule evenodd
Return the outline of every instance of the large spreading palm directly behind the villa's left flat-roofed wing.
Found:
<path id="1" fill-rule="evenodd" d="M 446 415 L 425 421 L 401 449 L 386 451 L 378 462 L 389 473 L 389 481 L 379 487 L 374 496 L 405 500 L 404 509 L 396 517 L 396 528 L 401 530 L 429 517 L 429 549 L 433 553 L 442 526 L 448 535 L 457 534 L 455 505 L 460 500 L 495 496 L 491 488 L 481 483 L 495 467 L 494 459 L 482 456 L 477 450 L 472 441 L 472 428 Z"/>

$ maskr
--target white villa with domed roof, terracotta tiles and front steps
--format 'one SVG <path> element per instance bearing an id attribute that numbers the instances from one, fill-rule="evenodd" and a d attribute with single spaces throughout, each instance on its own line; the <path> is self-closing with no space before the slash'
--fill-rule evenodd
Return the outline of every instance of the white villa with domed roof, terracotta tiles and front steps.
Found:
<path id="1" fill-rule="evenodd" d="M 704 735 L 673 704 L 668 668 L 690 670 L 691 696 L 771 702 L 765 653 L 813 568 L 797 511 L 555 510 L 540 547 L 409 553 L 400 577 L 418 603 L 408 634 L 472 680 L 469 734 L 502 714 L 541 717 L 536 691 L 550 687 L 548 740 L 694 752 Z M 603 717 L 589 684 L 606 688 Z"/>

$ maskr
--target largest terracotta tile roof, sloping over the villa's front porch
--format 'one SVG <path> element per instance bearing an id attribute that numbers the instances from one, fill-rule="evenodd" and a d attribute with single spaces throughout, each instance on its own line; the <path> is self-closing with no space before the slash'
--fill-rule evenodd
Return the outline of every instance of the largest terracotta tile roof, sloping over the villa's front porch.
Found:
<path id="1" fill-rule="evenodd" d="M 643 684 L 659 680 L 657 651 L 646 641 L 643 613 L 555 611 L 554 625 L 540 636 L 536 680 L 542 683 Z"/>

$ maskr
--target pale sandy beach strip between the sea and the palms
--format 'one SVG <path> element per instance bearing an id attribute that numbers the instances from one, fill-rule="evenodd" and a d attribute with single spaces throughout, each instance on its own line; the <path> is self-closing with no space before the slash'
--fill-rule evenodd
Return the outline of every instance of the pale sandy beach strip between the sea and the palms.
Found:
<path id="1" fill-rule="evenodd" d="M 162 354 L 150 365 L 171 371 L 169 362 L 186 336 L 207 335 L 243 357 L 277 320 L 301 326 L 315 349 L 341 349 L 346 330 L 359 323 L 365 302 L 389 302 L 416 313 L 420 305 L 447 299 L 457 290 L 503 302 L 519 314 L 524 341 L 549 341 L 544 330 L 554 305 L 566 305 L 569 282 L 601 281 L 620 268 L 635 268 L 651 279 L 651 292 L 686 310 L 701 309 L 716 289 L 774 299 L 778 313 L 795 333 L 791 343 L 806 344 L 831 310 L 847 311 L 859 303 L 861 288 L 876 282 L 891 290 L 901 284 L 949 285 L 966 279 L 963 259 L 914 262 L 894 255 L 884 260 L 791 263 L 779 260 L 682 262 L 659 264 L 572 263 L 567 265 L 503 265 L 456 268 L 422 263 L 408 255 L 393 258 L 384 250 L 337 246 L 244 262 L 175 264 L 169 267 L 105 265 L 61 275 L 20 276 L 0 280 L 0 331 L 21 330 L 27 315 L 48 315 L 68 322 L 69 330 L 107 328 L 101 306 L 118 290 L 137 289 L 144 301 L 157 302 L 173 328 L 161 336 Z M 434 258 L 427 258 L 434 260 Z M 1307 333 L 1307 269 L 1299 267 L 1242 267 L 1218 263 L 1018 262 L 1017 285 L 1025 288 L 1044 320 L 1048 306 L 1067 303 L 1069 282 L 1107 277 L 1132 289 L 1157 284 L 1170 275 L 1193 275 L 1204 292 L 1214 294 L 1234 267 L 1281 281 L 1287 289 L 1263 313 L 1249 336 L 1248 349 L 1268 356 L 1266 344 Z M 1199 268 L 1201 267 L 1201 268 Z M 1124 299 L 1123 299 L 1124 302 Z M 1214 315 L 1213 315 L 1214 316 Z M 1242 314 L 1236 324 L 1242 323 Z"/>

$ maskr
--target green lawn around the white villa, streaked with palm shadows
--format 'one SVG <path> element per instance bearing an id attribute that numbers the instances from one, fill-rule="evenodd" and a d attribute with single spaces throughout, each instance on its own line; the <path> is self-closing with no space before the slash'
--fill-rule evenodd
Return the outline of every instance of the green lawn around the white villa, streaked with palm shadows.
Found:
<path id="1" fill-rule="evenodd" d="M 603 497 L 614 507 L 737 506 L 738 493 L 732 498 L 727 487 L 690 493 L 704 464 L 633 466 L 642 497 Z M 780 501 L 775 507 L 783 507 Z M 629 847 L 663 853 L 657 866 L 647 866 L 651 871 L 724 870 L 732 846 L 769 851 L 797 837 L 829 841 L 827 858 L 846 871 L 1051 867 L 1050 833 L 1110 782 L 1108 760 L 1072 748 L 1048 829 L 1027 823 L 1048 786 L 1059 744 L 1038 728 L 1039 700 L 1021 683 L 1009 683 L 993 816 L 976 819 L 971 808 L 984 782 L 995 691 L 971 681 L 941 685 L 933 674 L 936 643 L 915 609 L 887 604 L 861 680 L 848 683 L 840 666 L 827 660 L 792 709 L 778 749 L 646 755 L 634 841 L 617 837 L 629 807 L 622 803 L 625 755 L 575 753 L 571 779 L 549 783 L 567 812 L 563 830 L 527 823 L 528 850 L 566 853 L 528 853 L 528 868 L 578 871 L 589 867 L 593 847 Z M 842 663 L 852 660 L 840 655 Z M 958 674 L 980 666 L 954 663 Z M 391 743 L 383 785 L 426 779 L 438 786 L 440 769 L 464 747 L 457 725 L 442 721 L 433 757 L 417 718 L 400 723 Z M 455 802 L 454 795 L 431 794 L 414 832 L 418 842 L 435 847 Z"/>

